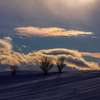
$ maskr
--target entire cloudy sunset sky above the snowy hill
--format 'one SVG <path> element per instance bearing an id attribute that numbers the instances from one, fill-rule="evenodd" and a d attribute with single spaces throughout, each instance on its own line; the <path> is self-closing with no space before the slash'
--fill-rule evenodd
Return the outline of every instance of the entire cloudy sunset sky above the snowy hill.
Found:
<path id="1" fill-rule="evenodd" d="M 0 0 L 0 65 L 64 56 L 72 70 L 99 70 L 99 22 L 100 0 Z"/>

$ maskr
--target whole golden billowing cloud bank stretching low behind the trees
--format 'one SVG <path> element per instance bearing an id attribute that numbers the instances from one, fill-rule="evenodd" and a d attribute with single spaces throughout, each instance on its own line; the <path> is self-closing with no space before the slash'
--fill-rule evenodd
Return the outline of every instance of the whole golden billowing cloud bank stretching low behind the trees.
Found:
<path id="1" fill-rule="evenodd" d="M 2 44 L 2 45 L 1 45 Z M 8 64 L 13 65 L 16 64 L 18 66 L 39 66 L 39 61 L 41 57 L 47 56 L 53 59 L 54 64 L 56 65 L 56 60 L 58 57 L 65 57 L 65 64 L 70 68 L 75 68 L 79 70 L 99 70 L 99 65 L 94 62 L 86 62 L 81 53 L 77 50 L 70 49 L 47 49 L 34 51 L 32 53 L 28 53 L 27 55 L 23 53 L 14 52 L 12 50 L 12 46 L 5 41 L 0 40 L 1 48 L 9 49 L 9 52 L 5 52 L 4 50 L 0 50 L 0 64 Z"/>

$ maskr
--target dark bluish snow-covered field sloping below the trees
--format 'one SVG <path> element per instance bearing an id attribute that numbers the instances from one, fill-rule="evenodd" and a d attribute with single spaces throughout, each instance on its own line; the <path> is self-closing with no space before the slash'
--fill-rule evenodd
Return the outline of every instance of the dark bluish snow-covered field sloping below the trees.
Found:
<path id="1" fill-rule="evenodd" d="M 100 71 L 0 72 L 0 100 L 100 100 Z"/>

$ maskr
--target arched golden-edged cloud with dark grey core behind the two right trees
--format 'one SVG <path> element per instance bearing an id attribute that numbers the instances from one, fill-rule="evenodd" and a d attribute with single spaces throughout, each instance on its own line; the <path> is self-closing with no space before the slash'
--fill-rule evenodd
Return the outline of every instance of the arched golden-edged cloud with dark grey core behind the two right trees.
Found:
<path id="1" fill-rule="evenodd" d="M 39 56 L 43 54 L 43 56 L 48 56 L 48 57 L 53 58 L 55 62 L 59 56 L 63 56 L 66 59 L 66 65 L 72 68 L 74 67 L 79 70 L 99 69 L 99 66 L 97 63 L 86 62 L 82 58 L 81 53 L 78 52 L 77 50 L 58 48 L 58 49 L 40 50 L 38 51 L 38 53 L 39 53 Z"/>

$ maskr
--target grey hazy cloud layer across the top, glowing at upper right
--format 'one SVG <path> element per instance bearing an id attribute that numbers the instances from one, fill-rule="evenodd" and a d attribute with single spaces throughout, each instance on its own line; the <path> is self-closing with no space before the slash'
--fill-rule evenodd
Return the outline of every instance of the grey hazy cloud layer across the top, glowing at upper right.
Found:
<path id="1" fill-rule="evenodd" d="M 0 0 L 0 26 L 4 33 L 15 27 L 36 26 L 90 31 L 100 36 L 99 9 L 100 0 Z"/>

